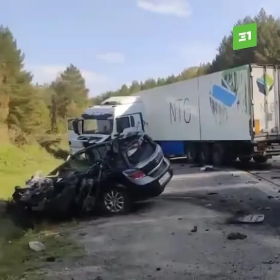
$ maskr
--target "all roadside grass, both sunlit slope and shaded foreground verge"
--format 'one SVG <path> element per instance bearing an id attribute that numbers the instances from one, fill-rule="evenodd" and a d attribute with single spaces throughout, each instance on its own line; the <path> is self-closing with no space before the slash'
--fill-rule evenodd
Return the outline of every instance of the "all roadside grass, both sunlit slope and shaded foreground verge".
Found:
<path id="1" fill-rule="evenodd" d="M 66 150 L 66 141 L 57 148 Z M 54 147 L 55 148 L 55 147 Z M 73 225 L 38 226 L 23 232 L 17 228 L 5 212 L 3 199 L 11 197 L 14 186 L 25 184 L 36 171 L 48 173 L 63 160 L 55 159 L 38 144 L 18 148 L 12 144 L 0 146 L 0 279 L 41 280 L 45 275 L 40 269 L 45 267 L 48 256 L 60 260 L 83 255 L 84 250 L 67 234 Z M 43 242 L 45 251 L 34 252 L 28 247 L 29 241 Z"/>

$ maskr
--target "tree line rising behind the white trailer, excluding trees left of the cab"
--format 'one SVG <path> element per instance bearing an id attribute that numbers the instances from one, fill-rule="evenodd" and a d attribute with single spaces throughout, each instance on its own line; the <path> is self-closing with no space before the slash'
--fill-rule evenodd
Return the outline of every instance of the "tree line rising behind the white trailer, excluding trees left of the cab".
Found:
<path id="1" fill-rule="evenodd" d="M 279 64 L 280 62 L 280 19 L 260 9 L 254 16 L 246 16 L 239 20 L 235 26 L 257 23 L 257 46 L 248 49 L 233 50 L 232 32 L 222 38 L 217 48 L 216 57 L 212 62 L 184 69 L 178 76 L 171 75 L 166 78 L 148 79 L 144 82 L 134 81 L 131 86 L 123 85 L 115 91 L 107 91 L 93 98 L 92 104 L 99 104 L 110 96 L 126 96 L 137 91 L 163 86 L 174 82 L 192 79 L 204 74 L 225 70 L 249 63 Z"/>

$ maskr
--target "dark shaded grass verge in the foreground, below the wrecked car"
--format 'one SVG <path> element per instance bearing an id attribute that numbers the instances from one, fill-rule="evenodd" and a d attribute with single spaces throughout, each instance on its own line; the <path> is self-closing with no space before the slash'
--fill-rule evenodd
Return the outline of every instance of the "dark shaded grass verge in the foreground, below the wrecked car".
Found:
<path id="1" fill-rule="evenodd" d="M 41 271 L 49 262 L 60 262 L 67 258 L 75 260 L 84 254 L 83 247 L 71 239 L 69 230 L 73 222 L 63 225 L 41 225 L 22 231 L 5 217 L 0 219 L 0 279 L 2 280 L 43 280 Z M 4 230 L 5 229 L 5 230 Z M 40 241 L 46 249 L 41 252 L 29 248 L 29 241 Z"/>

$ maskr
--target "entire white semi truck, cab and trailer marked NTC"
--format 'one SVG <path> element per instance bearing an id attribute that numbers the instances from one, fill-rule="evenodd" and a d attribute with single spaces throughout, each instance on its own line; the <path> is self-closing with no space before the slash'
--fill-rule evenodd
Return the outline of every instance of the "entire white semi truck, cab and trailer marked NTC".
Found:
<path id="1" fill-rule="evenodd" d="M 167 157 L 221 165 L 280 155 L 279 69 L 245 65 L 191 80 L 111 97 L 68 120 L 69 145 L 143 130 Z"/>

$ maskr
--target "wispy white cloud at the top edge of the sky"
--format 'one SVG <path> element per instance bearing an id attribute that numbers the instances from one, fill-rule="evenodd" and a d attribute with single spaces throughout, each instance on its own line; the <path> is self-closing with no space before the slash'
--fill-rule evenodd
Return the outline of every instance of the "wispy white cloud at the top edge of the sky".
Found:
<path id="1" fill-rule="evenodd" d="M 154 13 L 188 17 L 190 5 L 186 0 L 137 0 L 137 6 Z"/>

